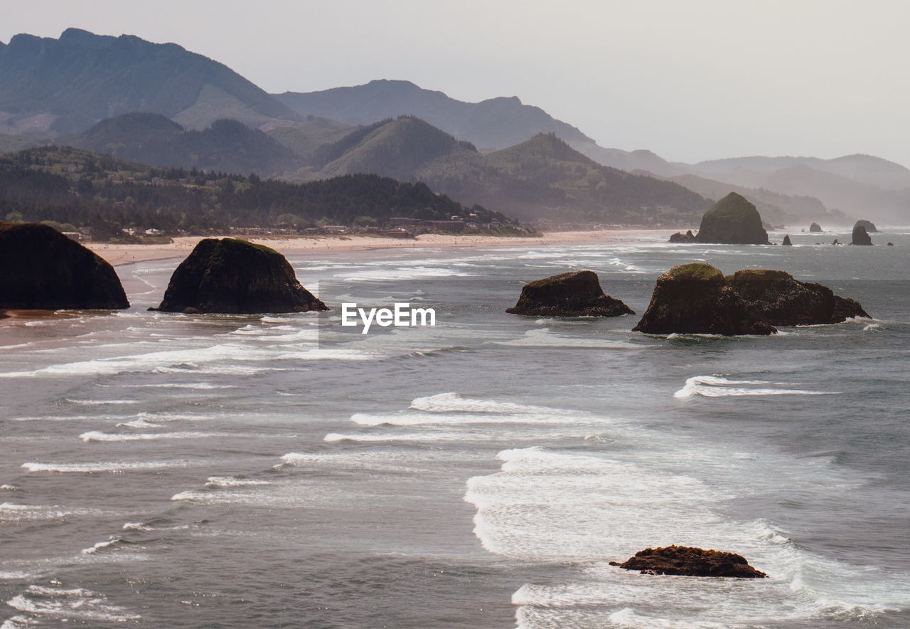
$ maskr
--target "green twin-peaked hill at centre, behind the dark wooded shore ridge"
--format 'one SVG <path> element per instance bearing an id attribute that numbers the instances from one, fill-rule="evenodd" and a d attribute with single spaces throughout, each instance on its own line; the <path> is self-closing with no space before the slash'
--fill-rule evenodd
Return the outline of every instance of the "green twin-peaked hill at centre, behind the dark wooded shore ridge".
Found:
<path id="1" fill-rule="evenodd" d="M 315 157 L 299 178 L 369 172 L 424 181 L 461 203 L 527 220 L 679 222 L 700 217 L 709 205 L 672 182 L 602 167 L 553 134 L 482 154 L 416 117 L 360 127 Z"/>

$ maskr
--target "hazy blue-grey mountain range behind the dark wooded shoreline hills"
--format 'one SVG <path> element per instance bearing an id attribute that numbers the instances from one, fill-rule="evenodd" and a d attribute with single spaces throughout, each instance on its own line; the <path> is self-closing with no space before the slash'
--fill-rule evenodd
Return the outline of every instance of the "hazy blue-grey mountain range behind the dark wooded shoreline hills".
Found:
<path id="1" fill-rule="evenodd" d="M 555 221 L 679 223 L 730 191 L 775 223 L 910 218 L 910 170 L 878 157 L 672 163 L 601 147 L 515 96 L 467 103 L 390 80 L 269 95 L 181 46 L 79 29 L 0 43 L 0 151 L 47 142 L 156 166 L 422 180 Z"/>

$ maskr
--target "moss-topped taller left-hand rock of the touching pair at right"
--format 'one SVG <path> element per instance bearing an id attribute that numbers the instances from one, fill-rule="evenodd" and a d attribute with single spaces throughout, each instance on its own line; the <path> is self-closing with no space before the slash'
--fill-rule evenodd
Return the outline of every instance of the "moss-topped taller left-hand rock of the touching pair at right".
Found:
<path id="1" fill-rule="evenodd" d="M 657 279 L 651 303 L 633 329 L 646 334 L 773 334 L 727 284 L 721 271 L 693 262 Z"/>

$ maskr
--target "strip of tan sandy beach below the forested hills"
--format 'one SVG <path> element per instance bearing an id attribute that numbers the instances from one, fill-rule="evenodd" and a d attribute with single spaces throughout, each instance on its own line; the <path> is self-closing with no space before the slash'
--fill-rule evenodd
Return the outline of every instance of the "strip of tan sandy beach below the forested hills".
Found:
<path id="1" fill-rule="evenodd" d="M 368 249 L 417 249 L 440 247 L 537 247 L 540 245 L 573 244 L 584 242 L 628 242 L 641 237 L 644 229 L 602 229 L 596 231 L 554 231 L 539 238 L 501 236 L 457 236 L 451 234 L 421 234 L 417 238 L 376 238 L 371 236 L 320 236 L 320 237 L 244 237 L 251 242 L 267 245 L 281 253 L 327 253 L 329 251 L 362 251 Z M 671 233 L 672 230 L 655 230 Z M 202 236 L 174 238 L 166 245 L 110 245 L 87 243 L 89 249 L 114 266 L 133 264 L 155 259 L 184 258 L 197 245 Z"/>

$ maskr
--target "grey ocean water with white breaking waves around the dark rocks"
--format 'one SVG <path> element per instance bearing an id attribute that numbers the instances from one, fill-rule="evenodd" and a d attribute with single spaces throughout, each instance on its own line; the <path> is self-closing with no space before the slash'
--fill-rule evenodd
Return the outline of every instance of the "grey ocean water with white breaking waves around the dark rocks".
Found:
<path id="1" fill-rule="evenodd" d="M 5 320 L 0 624 L 908 626 L 910 229 L 792 238 L 288 256 L 321 315 L 148 312 L 159 260 L 117 268 L 131 309 Z M 694 260 L 874 320 L 651 337 L 504 312 L 592 269 L 641 315 Z M 340 326 L 405 301 L 437 325 Z M 771 578 L 608 565 L 672 543 Z"/>

